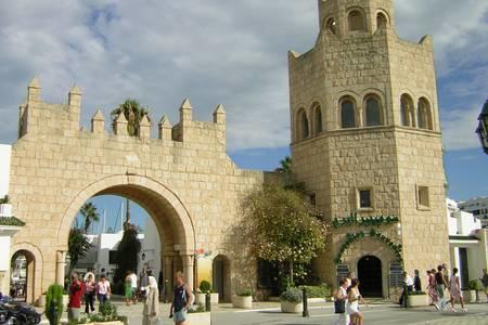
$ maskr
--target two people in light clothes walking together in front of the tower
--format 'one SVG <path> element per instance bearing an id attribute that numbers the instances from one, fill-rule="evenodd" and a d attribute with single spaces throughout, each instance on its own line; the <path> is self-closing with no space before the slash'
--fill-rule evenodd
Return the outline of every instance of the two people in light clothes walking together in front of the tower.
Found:
<path id="1" fill-rule="evenodd" d="M 364 316 L 359 311 L 359 303 L 361 302 L 365 307 L 368 304 L 359 292 L 359 280 L 355 277 L 354 272 L 349 272 L 346 277 L 341 278 L 334 298 L 335 313 L 339 315 L 335 324 L 363 324 Z"/>

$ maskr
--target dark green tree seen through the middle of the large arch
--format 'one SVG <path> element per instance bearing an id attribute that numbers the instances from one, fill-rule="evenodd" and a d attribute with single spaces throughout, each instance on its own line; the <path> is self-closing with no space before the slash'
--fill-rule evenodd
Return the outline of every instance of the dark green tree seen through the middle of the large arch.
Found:
<path id="1" fill-rule="evenodd" d="M 115 270 L 114 281 L 124 281 L 127 271 L 138 270 L 138 256 L 141 251 L 141 242 L 138 239 L 138 229 L 133 224 L 125 224 L 124 236 L 118 244 L 116 263 L 117 269 Z"/>

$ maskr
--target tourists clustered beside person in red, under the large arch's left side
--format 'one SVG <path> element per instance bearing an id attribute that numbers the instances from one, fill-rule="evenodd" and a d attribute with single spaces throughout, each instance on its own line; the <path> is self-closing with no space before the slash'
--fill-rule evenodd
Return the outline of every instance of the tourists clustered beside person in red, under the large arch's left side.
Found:
<path id="1" fill-rule="evenodd" d="M 69 285 L 68 318 L 79 318 L 81 302 L 85 300 L 85 313 L 94 312 L 94 300 L 98 298 L 100 304 L 110 299 L 112 295 L 111 283 L 104 274 L 97 282 L 93 273 L 88 272 L 85 278 L 80 278 L 78 272 L 72 273 Z"/>

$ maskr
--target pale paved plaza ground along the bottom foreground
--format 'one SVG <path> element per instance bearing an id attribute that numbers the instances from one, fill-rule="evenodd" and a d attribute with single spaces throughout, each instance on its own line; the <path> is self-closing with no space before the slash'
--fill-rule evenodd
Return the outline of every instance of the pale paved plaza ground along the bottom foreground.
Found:
<path id="1" fill-rule="evenodd" d="M 128 315 L 131 325 L 142 323 L 142 303 L 126 307 L 115 302 L 120 314 Z M 441 324 L 441 325 L 488 325 L 488 303 L 468 304 L 465 312 L 437 312 L 434 308 L 401 309 L 390 303 L 374 303 L 362 308 L 364 324 L 374 325 L 402 325 L 402 324 Z M 169 304 L 160 304 L 162 324 L 174 324 L 168 318 Z M 313 303 L 310 306 L 310 317 L 300 314 L 283 314 L 277 302 L 254 303 L 253 310 L 232 309 L 231 304 L 219 304 L 213 308 L 213 325 L 324 325 L 334 324 L 336 315 L 331 303 Z M 190 324 L 197 325 L 197 324 Z"/>

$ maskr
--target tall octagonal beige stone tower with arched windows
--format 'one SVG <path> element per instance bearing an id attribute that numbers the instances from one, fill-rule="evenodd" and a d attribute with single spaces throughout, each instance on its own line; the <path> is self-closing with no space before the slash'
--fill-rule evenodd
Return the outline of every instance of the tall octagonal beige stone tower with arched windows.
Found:
<path id="1" fill-rule="evenodd" d="M 362 289 L 387 296 L 401 266 L 449 261 L 432 39 L 400 39 L 393 0 L 319 0 L 319 16 L 313 49 L 288 54 L 293 171 L 337 218 L 316 271 L 380 274 Z"/>

